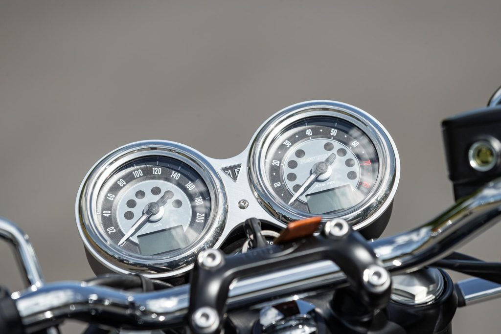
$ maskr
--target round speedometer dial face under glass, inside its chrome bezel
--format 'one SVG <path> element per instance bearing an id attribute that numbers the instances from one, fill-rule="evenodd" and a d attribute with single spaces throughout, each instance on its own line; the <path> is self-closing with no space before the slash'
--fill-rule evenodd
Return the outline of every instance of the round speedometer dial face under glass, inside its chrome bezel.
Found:
<path id="1" fill-rule="evenodd" d="M 207 184 L 189 165 L 146 156 L 120 166 L 97 197 L 97 225 L 128 253 L 162 256 L 197 241 L 211 212 Z"/>

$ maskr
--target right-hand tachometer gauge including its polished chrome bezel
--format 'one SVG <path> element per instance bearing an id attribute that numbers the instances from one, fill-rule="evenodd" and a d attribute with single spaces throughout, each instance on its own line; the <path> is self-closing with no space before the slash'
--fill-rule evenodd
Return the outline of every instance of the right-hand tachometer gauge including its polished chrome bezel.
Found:
<path id="1" fill-rule="evenodd" d="M 278 219 L 344 218 L 367 226 L 391 204 L 396 147 L 364 111 L 334 101 L 288 107 L 258 132 L 249 155 L 258 200 Z"/>

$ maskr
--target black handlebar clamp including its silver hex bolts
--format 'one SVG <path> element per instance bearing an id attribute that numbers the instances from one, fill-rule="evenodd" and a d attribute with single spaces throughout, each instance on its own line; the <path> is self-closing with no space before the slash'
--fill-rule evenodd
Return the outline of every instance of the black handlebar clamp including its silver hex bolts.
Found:
<path id="1" fill-rule="evenodd" d="M 294 267 L 317 260 L 335 262 L 347 276 L 348 290 L 367 310 L 390 300 L 391 278 L 365 238 L 342 219 L 325 224 L 322 233 L 226 257 L 220 250 L 198 254 L 191 273 L 188 322 L 197 334 L 216 333 L 223 326 L 226 300 L 235 279 Z"/>

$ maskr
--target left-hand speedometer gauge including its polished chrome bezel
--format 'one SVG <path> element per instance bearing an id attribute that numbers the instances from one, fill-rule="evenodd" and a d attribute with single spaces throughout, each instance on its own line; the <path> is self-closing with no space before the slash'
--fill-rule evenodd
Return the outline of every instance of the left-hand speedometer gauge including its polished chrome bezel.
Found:
<path id="1" fill-rule="evenodd" d="M 189 270 L 198 251 L 215 245 L 225 212 L 217 173 L 199 153 L 171 142 L 111 152 L 90 170 L 77 198 L 87 251 L 112 271 L 149 277 Z"/>

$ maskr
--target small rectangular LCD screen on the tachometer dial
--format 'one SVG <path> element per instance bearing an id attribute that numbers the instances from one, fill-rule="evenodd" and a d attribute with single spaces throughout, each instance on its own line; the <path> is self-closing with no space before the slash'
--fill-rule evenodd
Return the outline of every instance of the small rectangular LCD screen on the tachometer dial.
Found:
<path id="1" fill-rule="evenodd" d="M 359 202 L 357 192 L 345 185 L 306 195 L 310 213 L 322 214 L 352 207 Z"/>

